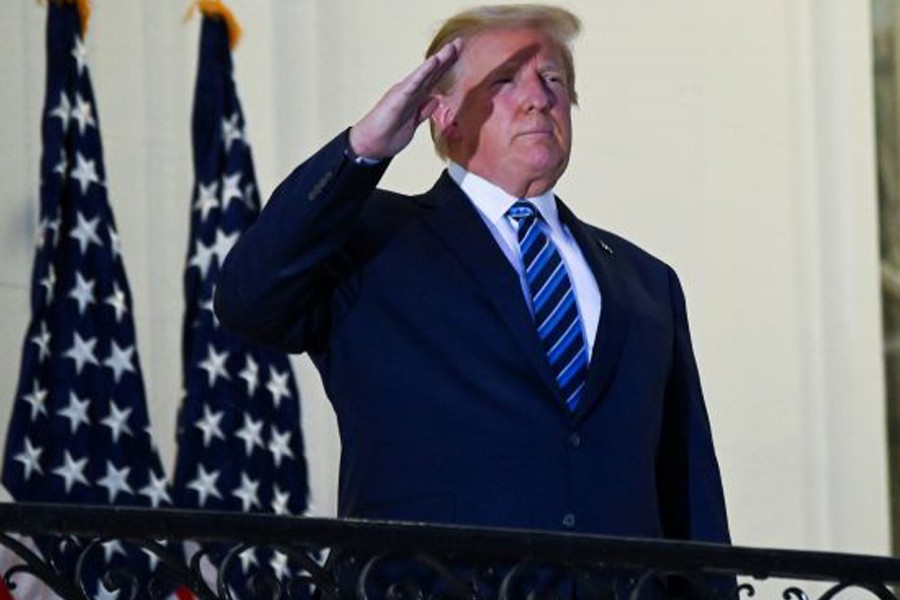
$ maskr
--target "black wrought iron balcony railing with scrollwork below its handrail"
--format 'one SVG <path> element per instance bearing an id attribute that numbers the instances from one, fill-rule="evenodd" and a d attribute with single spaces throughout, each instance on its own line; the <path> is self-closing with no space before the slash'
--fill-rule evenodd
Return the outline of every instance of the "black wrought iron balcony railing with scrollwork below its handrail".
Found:
<path id="1" fill-rule="evenodd" d="M 900 559 L 886 557 L 246 513 L 0 504 L 0 532 L 10 586 L 39 580 L 79 600 L 95 597 L 90 576 L 119 600 L 175 586 L 203 600 L 897 600 L 900 585 Z M 141 549 L 152 570 L 89 576 L 89 558 L 110 544 Z"/>

